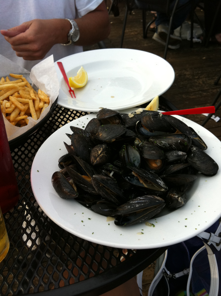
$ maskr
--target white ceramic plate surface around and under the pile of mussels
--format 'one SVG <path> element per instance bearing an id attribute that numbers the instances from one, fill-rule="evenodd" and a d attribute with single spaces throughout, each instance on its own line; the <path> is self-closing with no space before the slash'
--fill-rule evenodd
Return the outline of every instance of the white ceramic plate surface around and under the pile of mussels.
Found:
<path id="1" fill-rule="evenodd" d="M 60 198 L 51 184 L 51 176 L 60 170 L 57 165 L 59 157 L 67 153 L 63 141 L 70 144 L 65 133 L 71 133 L 71 125 L 86 126 L 95 116 L 96 114 L 85 115 L 67 123 L 43 143 L 35 156 L 31 169 L 31 185 L 38 204 L 51 220 L 70 233 L 91 242 L 119 248 L 146 249 L 168 246 L 194 237 L 220 218 L 220 169 L 212 177 L 198 174 L 194 186 L 187 192 L 186 204 L 173 212 L 164 209 L 157 218 L 149 220 L 155 227 L 146 226 L 145 223 L 128 227 L 116 226 L 114 221 L 107 222 L 106 217 L 92 212 L 77 201 Z M 199 133 L 208 145 L 206 153 L 221 168 L 221 142 L 197 123 L 177 115 L 175 117 Z M 138 232 L 143 234 L 138 235 Z"/>

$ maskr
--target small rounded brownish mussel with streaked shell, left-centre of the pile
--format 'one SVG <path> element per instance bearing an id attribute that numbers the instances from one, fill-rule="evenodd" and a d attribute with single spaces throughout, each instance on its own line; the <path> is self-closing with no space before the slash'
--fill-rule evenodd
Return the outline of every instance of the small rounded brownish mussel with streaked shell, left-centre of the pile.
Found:
<path id="1" fill-rule="evenodd" d="M 99 144 L 93 147 L 90 155 L 90 163 L 92 165 L 103 165 L 111 158 L 111 149 L 107 144 Z"/>

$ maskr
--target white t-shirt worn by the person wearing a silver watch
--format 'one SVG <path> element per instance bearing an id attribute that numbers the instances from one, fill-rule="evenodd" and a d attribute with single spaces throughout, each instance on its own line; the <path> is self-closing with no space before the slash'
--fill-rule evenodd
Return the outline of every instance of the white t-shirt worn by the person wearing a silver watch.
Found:
<path id="1" fill-rule="evenodd" d="M 0 30 L 16 27 L 22 22 L 33 19 L 69 18 L 75 19 L 93 11 L 103 0 L 0 0 Z M 46 57 L 54 55 L 54 61 L 70 54 L 82 52 L 82 46 L 55 44 Z M 11 45 L 0 34 L 0 54 L 27 70 L 36 65 L 37 61 L 25 61 L 17 57 Z"/>

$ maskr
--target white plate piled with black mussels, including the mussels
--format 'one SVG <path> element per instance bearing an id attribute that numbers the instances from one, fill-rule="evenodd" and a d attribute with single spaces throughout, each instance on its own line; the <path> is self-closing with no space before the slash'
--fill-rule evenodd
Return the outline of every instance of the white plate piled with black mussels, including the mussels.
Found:
<path id="1" fill-rule="evenodd" d="M 63 229 L 111 247 L 163 247 L 221 215 L 221 142 L 178 115 L 107 108 L 53 133 L 31 169 L 36 200 Z"/>

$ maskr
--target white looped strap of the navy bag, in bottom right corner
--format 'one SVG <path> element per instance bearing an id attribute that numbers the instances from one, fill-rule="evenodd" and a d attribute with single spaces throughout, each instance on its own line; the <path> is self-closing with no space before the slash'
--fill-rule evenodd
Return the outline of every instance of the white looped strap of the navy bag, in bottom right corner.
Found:
<path id="1" fill-rule="evenodd" d="M 186 295 L 190 296 L 190 281 L 191 281 L 191 275 L 193 271 L 193 261 L 196 258 L 196 256 L 203 251 L 204 249 L 207 250 L 208 253 L 208 259 L 209 259 L 209 267 L 210 267 L 210 274 L 211 274 L 211 283 L 210 283 L 210 290 L 209 290 L 209 296 L 218 296 L 219 291 L 219 272 L 218 272 L 218 266 L 217 266 L 217 260 L 216 256 L 209 247 L 209 244 L 204 243 L 204 246 L 201 247 L 192 257 L 190 262 L 190 272 L 189 277 L 187 281 L 187 287 L 186 287 Z"/>

